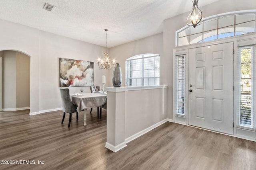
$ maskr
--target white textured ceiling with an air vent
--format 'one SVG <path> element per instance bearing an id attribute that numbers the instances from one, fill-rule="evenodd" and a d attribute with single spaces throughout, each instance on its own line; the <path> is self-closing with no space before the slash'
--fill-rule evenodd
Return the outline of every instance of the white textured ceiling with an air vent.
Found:
<path id="1" fill-rule="evenodd" d="M 198 7 L 216 1 L 199 0 Z M 191 9 L 191 0 L 0 0 L 0 19 L 101 46 L 108 29 L 107 46 L 114 47 L 161 33 L 165 19 Z"/>

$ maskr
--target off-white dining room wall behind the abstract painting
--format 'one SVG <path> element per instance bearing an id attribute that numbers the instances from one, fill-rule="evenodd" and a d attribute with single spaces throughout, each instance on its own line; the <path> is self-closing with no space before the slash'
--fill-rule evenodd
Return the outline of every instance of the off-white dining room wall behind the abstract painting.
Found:
<path id="1" fill-rule="evenodd" d="M 47 32 L 41 32 L 40 36 L 40 111 L 62 107 L 59 92 L 59 58 L 94 62 L 94 84 L 102 86 L 102 75 L 108 70 L 98 67 L 97 58 L 104 54 L 104 47 Z M 80 92 L 79 89 L 72 87 L 70 93 Z M 90 88 L 84 87 L 84 92 L 90 92 Z"/>

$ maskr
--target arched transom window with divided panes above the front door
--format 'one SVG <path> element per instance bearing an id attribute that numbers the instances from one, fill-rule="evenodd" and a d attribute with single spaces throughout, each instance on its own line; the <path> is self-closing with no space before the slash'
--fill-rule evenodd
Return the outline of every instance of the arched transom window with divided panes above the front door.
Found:
<path id="1" fill-rule="evenodd" d="M 177 45 L 189 45 L 255 32 L 255 13 L 223 14 L 176 32 Z"/>

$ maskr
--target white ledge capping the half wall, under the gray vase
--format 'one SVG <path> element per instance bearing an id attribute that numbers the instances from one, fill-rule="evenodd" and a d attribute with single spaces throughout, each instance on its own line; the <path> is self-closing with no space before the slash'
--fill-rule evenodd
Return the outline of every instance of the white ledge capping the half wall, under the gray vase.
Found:
<path id="1" fill-rule="evenodd" d="M 157 89 L 157 88 L 168 88 L 168 85 L 106 87 L 106 91 L 107 92 L 126 92 L 126 91 L 149 90 L 149 89 Z"/>

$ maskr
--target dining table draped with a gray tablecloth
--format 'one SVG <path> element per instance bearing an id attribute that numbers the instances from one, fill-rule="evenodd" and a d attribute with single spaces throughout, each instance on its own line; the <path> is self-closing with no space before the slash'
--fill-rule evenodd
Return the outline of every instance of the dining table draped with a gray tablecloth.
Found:
<path id="1" fill-rule="evenodd" d="M 78 113 L 84 111 L 84 126 L 86 126 L 86 111 L 88 108 L 100 107 L 107 101 L 107 94 L 83 93 L 70 95 L 70 100 L 77 105 Z"/>

